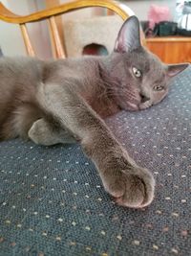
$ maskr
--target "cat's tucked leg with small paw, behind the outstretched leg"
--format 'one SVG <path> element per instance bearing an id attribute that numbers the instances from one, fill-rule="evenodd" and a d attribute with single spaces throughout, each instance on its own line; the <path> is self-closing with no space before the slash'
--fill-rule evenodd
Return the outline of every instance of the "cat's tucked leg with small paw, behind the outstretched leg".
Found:
<path id="1" fill-rule="evenodd" d="M 35 144 L 44 146 L 76 142 L 68 130 L 63 128 L 53 128 L 53 126 L 51 126 L 44 118 L 38 119 L 32 124 L 32 128 L 30 128 L 28 135 Z"/>

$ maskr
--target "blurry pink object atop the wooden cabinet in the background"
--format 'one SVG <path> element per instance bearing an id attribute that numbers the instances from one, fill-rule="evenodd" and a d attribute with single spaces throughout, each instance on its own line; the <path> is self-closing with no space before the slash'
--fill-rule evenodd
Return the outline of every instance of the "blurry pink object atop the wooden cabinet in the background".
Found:
<path id="1" fill-rule="evenodd" d="M 168 7 L 160 7 L 156 5 L 151 5 L 148 12 L 149 28 L 154 29 L 155 24 L 160 21 L 171 20 L 171 14 Z"/>

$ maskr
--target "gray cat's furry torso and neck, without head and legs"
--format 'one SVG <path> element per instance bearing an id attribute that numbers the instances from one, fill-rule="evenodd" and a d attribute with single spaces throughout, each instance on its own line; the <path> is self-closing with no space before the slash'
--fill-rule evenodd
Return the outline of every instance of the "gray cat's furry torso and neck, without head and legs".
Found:
<path id="1" fill-rule="evenodd" d="M 96 57 L 52 61 L 1 58 L 0 139 L 17 136 L 27 138 L 34 121 L 50 118 L 36 98 L 42 83 L 53 82 L 67 86 L 68 82 L 71 89 L 81 95 L 101 117 L 116 113 L 119 106 L 111 88 L 117 81 L 107 74 L 103 65 L 110 61 L 105 60 Z M 18 123 L 23 125 L 18 126 Z"/>

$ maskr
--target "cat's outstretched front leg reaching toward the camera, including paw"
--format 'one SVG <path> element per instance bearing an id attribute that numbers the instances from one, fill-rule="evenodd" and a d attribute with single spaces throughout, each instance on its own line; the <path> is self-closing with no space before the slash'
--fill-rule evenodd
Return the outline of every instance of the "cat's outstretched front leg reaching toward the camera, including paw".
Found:
<path id="1" fill-rule="evenodd" d="M 95 162 L 105 190 L 120 205 L 139 208 L 151 203 L 155 190 L 153 175 L 138 167 L 96 112 L 71 87 L 42 85 L 38 97 L 42 107 L 78 137 Z"/>

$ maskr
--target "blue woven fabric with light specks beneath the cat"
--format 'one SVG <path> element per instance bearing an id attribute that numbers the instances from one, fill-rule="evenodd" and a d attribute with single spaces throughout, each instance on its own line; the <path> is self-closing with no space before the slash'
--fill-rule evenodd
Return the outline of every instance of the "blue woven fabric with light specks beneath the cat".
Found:
<path id="1" fill-rule="evenodd" d="M 168 97 L 109 126 L 157 180 L 146 209 L 117 206 L 79 145 L 0 144 L 0 255 L 191 255 L 191 67 Z"/>

